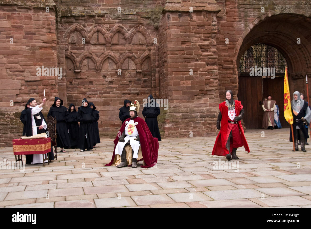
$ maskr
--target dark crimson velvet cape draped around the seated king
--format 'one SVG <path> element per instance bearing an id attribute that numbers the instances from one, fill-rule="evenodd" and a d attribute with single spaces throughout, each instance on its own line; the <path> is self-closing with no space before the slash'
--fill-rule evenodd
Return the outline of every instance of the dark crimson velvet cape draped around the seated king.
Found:
<path id="1" fill-rule="evenodd" d="M 130 118 L 126 119 L 120 129 L 119 133 L 123 133 L 125 129 L 125 122 L 129 121 Z M 142 168 L 149 168 L 156 165 L 156 162 L 158 160 L 158 150 L 159 150 L 159 142 L 157 138 L 152 137 L 151 132 L 146 124 L 146 122 L 140 118 L 136 117 L 133 119 L 134 122 L 138 122 L 138 125 L 136 125 L 139 139 L 140 139 L 140 145 L 142 148 L 142 159 L 145 162 L 145 166 L 141 166 Z M 119 142 L 119 136 L 114 139 L 114 153 L 116 150 L 116 146 Z M 105 166 L 111 166 L 114 162 L 115 154 L 113 153 L 112 159 L 110 163 L 108 163 Z M 140 160 L 139 160 L 140 161 Z"/>

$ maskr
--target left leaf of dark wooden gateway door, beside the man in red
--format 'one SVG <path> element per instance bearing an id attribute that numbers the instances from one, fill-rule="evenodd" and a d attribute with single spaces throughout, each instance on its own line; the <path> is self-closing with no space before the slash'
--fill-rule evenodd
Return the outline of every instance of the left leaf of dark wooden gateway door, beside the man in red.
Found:
<path id="1" fill-rule="evenodd" d="M 245 114 L 243 122 L 246 128 L 256 129 L 262 126 L 262 77 L 240 76 L 238 100 L 241 101 Z"/>

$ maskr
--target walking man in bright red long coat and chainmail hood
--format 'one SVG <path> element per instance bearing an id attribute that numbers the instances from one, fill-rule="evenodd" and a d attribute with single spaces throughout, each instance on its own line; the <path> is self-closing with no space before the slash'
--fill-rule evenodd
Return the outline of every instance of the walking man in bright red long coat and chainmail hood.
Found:
<path id="1" fill-rule="evenodd" d="M 241 119 L 244 115 L 243 106 L 240 101 L 233 100 L 232 91 L 227 90 L 226 100 L 219 104 L 219 110 L 216 127 L 220 131 L 216 137 L 212 155 L 225 156 L 227 160 L 239 159 L 236 155 L 238 147 L 244 146 L 245 151 L 249 153 L 241 125 Z"/>

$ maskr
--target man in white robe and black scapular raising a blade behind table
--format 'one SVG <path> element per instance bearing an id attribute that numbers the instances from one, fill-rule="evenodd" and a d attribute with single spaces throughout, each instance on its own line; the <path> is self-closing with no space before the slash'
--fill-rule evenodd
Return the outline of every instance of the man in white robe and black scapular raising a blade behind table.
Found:
<path id="1" fill-rule="evenodd" d="M 34 98 L 28 100 L 30 108 L 26 110 L 26 136 L 33 136 L 36 134 L 45 133 L 47 131 L 47 124 L 45 118 L 41 112 L 42 106 L 44 105 L 46 99 L 43 99 L 43 103 L 37 105 Z M 34 127 L 33 127 L 34 126 Z M 37 127 L 35 127 L 37 126 Z M 51 143 L 51 152 L 49 155 L 50 160 L 54 160 L 54 154 Z M 30 154 L 26 155 L 26 164 L 36 164 L 43 163 L 43 158 L 41 154 Z"/>

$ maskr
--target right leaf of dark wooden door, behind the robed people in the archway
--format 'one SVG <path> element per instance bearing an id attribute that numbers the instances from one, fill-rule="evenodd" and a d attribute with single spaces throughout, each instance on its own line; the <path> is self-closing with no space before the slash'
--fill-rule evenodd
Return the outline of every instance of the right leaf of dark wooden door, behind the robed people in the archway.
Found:
<path id="1" fill-rule="evenodd" d="M 284 76 L 276 77 L 274 79 L 262 79 L 262 91 L 264 98 L 267 98 L 267 95 L 270 94 L 272 100 L 276 101 L 276 104 L 279 107 L 281 126 L 290 127 L 290 124 L 288 124 L 284 118 Z"/>

